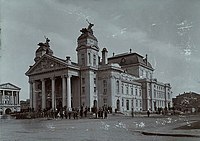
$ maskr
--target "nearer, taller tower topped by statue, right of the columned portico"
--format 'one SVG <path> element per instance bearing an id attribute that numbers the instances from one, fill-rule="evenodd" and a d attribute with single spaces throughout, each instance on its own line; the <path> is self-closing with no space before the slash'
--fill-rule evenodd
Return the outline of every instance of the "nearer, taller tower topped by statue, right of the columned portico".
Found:
<path id="1" fill-rule="evenodd" d="M 89 22 L 88 22 L 89 23 Z M 97 38 L 93 34 L 89 23 L 87 28 L 82 28 L 81 35 L 78 37 L 76 48 L 78 65 L 81 68 L 81 104 L 87 107 L 97 106 L 96 76 L 99 65 L 99 47 Z"/>

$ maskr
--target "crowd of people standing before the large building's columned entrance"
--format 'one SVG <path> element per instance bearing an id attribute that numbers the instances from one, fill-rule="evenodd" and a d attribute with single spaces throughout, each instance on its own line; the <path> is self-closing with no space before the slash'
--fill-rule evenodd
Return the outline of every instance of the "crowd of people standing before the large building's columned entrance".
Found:
<path id="1" fill-rule="evenodd" d="M 81 106 L 80 108 L 67 108 L 57 107 L 56 109 L 44 109 L 34 111 L 34 109 L 27 109 L 27 111 L 17 114 L 17 118 L 61 118 L 61 119 L 79 119 L 79 118 L 107 118 L 108 113 L 112 113 L 112 108 L 103 107 L 93 107 L 88 108 Z"/>

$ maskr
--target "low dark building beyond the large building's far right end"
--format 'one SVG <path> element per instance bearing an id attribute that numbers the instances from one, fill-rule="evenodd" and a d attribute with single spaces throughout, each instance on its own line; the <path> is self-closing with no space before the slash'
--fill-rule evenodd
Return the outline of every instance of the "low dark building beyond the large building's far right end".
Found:
<path id="1" fill-rule="evenodd" d="M 172 100 L 175 110 L 179 110 L 184 113 L 200 112 L 200 94 L 187 92 L 179 94 Z"/>

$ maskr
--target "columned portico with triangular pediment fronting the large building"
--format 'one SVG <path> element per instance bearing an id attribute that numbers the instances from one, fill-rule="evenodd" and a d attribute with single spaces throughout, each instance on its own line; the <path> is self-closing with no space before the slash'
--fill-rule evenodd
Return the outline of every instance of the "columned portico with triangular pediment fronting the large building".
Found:
<path id="1" fill-rule="evenodd" d="M 45 54 L 26 73 L 29 76 L 30 108 L 38 111 L 56 110 L 62 107 L 71 110 L 72 107 L 78 107 L 80 103 L 80 90 L 76 87 L 80 81 L 78 72 L 79 68 L 73 64 Z"/>

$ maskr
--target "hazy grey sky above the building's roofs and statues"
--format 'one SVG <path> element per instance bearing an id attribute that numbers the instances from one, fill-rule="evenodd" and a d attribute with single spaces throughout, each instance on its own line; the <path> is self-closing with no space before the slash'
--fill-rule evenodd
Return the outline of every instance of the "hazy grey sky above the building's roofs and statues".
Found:
<path id="1" fill-rule="evenodd" d="M 25 72 L 37 44 L 46 36 L 55 56 L 77 62 L 77 38 L 88 19 L 109 56 L 130 49 L 148 54 L 154 77 L 171 84 L 173 97 L 200 93 L 199 15 L 199 0 L 0 0 L 0 84 L 20 87 L 20 99 L 28 99 Z"/>

